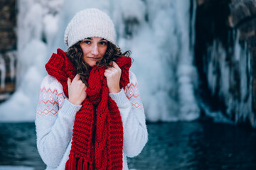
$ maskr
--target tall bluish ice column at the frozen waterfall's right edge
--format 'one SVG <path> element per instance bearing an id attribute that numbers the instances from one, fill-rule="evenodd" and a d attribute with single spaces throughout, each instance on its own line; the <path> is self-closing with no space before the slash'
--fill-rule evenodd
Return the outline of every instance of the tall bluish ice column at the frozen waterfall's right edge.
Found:
<path id="1" fill-rule="evenodd" d="M 177 13 L 177 26 L 180 28 L 181 44 L 183 45 L 177 65 L 180 120 L 196 120 L 200 115 L 200 109 L 198 108 L 196 97 L 194 95 L 194 89 L 198 82 L 196 80 L 196 67 L 193 65 L 193 52 L 191 51 L 191 49 L 193 49 L 191 43 L 194 44 L 194 42 L 190 42 L 191 38 L 189 35 L 190 6 L 191 4 L 186 0 L 176 1 L 176 9 L 182 9 L 182 12 Z M 183 12 L 183 10 L 186 12 Z"/>

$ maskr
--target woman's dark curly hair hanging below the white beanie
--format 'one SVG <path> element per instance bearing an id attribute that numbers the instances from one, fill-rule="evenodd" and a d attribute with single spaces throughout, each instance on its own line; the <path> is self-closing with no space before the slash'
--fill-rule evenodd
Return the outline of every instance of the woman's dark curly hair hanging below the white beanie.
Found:
<path id="1" fill-rule="evenodd" d="M 82 59 L 83 53 L 82 48 L 80 47 L 81 42 L 82 41 L 79 41 L 75 43 L 75 45 L 69 47 L 68 51 L 65 52 L 65 55 L 67 55 L 70 61 L 74 64 L 76 72 L 80 75 L 82 82 L 88 86 L 88 77 L 92 67 L 90 67 L 90 65 Z M 96 64 L 98 67 L 111 67 L 112 64 L 110 63 L 112 63 L 112 61 L 115 61 L 117 58 L 122 56 L 129 56 L 130 53 L 130 51 L 122 53 L 120 47 L 117 47 L 117 45 L 114 45 L 112 42 L 108 41 L 107 50 L 104 57 L 102 60 L 100 60 L 100 62 L 97 62 Z"/>

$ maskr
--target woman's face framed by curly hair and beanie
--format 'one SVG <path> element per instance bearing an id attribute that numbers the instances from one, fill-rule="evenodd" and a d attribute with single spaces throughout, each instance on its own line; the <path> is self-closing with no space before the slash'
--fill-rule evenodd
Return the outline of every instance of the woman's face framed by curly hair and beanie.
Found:
<path id="1" fill-rule="evenodd" d="M 103 38 L 91 37 L 85 38 L 80 43 L 83 52 L 83 60 L 93 67 L 96 62 L 100 62 L 107 50 L 107 40 Z"/>

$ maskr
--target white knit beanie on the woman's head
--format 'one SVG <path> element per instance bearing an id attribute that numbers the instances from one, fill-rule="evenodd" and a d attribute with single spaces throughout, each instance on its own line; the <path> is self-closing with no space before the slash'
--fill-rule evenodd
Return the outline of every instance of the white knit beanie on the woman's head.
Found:
<path id="1" fill-rule="evenodd" d="M 106 13 L 97 8 L 87 8 L 75 14 L 65 29 L 64 42 L 71 47 L 90 37 L 104 38 L 114 44 L 114 24 Z"/>

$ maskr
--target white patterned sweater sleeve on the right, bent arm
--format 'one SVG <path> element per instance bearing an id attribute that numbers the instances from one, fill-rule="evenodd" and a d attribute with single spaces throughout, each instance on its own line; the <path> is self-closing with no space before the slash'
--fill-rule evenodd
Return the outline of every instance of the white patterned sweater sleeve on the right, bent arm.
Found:
<path id="1" fill-rule="evenodd" d="M 135 74 L 129 72 L 129 84 L 110 97 L 117 103 L 124 127 L 124 154 L 135 157 L 146 145 L 148 132 L 142 99 Z"/>

